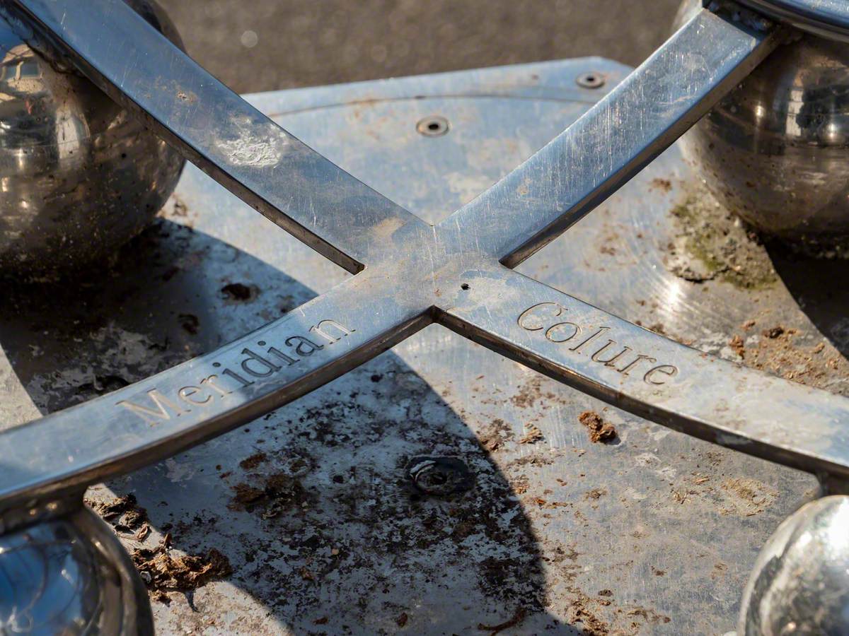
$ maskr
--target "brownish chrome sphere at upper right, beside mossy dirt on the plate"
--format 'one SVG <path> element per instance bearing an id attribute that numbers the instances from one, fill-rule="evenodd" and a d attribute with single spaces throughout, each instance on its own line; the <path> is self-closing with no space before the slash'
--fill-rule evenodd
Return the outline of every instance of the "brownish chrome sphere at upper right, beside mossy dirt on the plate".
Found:
<path id="1" fill-rule="evenodd" d="M 682 24 L 699 0 L 685 2 Z M 799 34 L 681 140 L 720 203 L 793 242 L 849 237 L 849 47 Z"/>

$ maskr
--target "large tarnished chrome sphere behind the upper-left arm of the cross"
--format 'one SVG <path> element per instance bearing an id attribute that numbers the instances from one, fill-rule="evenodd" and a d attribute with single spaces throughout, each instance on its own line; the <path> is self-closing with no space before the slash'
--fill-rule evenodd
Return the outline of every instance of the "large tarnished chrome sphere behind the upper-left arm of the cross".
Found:
<path id="1" fill-rule="evenodd" d="M 155 2 L 127 3 L 182 47 Z M 24 28 L 0 20 L 0 276 L 56 278 L 141 232 L 183 159 Z"/>

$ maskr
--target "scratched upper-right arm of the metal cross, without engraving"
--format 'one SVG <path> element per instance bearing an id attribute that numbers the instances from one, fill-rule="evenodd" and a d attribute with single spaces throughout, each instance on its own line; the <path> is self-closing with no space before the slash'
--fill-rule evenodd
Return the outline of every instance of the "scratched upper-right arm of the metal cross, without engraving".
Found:
<path id="1" fill-rule="evenodd" d="M 668 148 L 779 42 L 702 9 L 581 119 L 459 209 L 467 243 L 515 267 Z"/>

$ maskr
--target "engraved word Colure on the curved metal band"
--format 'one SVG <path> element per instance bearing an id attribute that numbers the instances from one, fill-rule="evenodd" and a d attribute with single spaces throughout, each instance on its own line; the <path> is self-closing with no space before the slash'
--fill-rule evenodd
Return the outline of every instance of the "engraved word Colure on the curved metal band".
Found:
<path id="1" fill-rule="evenodd" d="M 678 375 L 677 366 L 658 365 L 652 356 L 638 354 L 612 338 L 605 338 L 609 326 L 599 326 L 589 333 L 575 322 L 558 320 L 566 311 L 559 303 L 537 303 L 523 311 L 516 322 L 528 332 L 543 332 L 549 343 L 562 344 L 573 353 L 589 355 L 593 362 L 623 376 L 641 374 L 647 384 L 666 384 L 670 377 Z"/>

